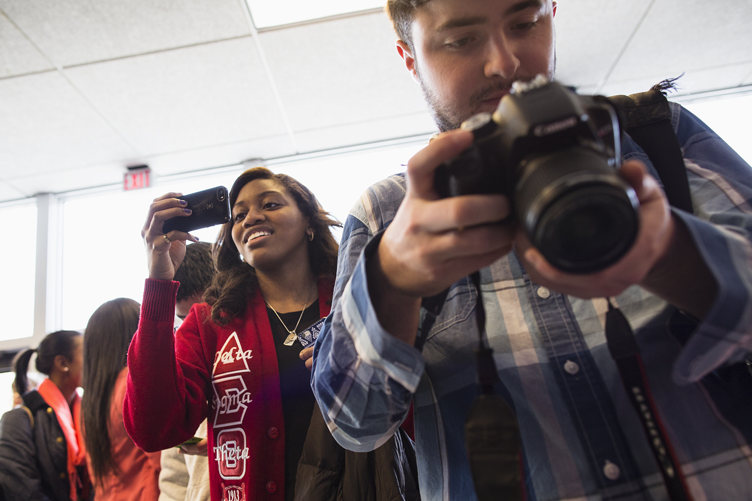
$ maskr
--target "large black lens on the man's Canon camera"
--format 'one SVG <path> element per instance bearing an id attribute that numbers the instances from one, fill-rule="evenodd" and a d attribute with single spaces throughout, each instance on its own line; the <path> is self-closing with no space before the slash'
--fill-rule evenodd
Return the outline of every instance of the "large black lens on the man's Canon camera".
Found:
<path id="1" fill-rule="evenodd" d="M 632 247 L 638 202 L 606 159 L 575 147 L 526 162 L 515 209 L 533 246 L 554 267 L 593 273 Z"/>

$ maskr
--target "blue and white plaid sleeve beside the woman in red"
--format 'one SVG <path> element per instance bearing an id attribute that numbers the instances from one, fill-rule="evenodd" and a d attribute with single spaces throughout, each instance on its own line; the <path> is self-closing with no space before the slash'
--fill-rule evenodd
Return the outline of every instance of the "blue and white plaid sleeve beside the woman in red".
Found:
<path id="1" fill-rule="evenodd" d="M 423 375 L 420 352 L 381 327 L 365 273 L 365 263 L 381 237 L 373 234 L 391 221 L 404 194 L 401 186 L 386 180 L 371 187 L 347 217 L 332 313 L 314 349 L 314 395 L 332 435 L 353 451 L 371 451 L 390 439 Z M 393 198 L 388 215 L 371 206 L 380 189 L 384 198 Z"/>

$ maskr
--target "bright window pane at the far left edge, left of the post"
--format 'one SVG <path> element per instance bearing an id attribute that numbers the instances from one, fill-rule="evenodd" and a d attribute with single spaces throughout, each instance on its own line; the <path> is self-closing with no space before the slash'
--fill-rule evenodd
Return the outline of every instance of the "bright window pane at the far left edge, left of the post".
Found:
<path id="1" fill-rule="evenodd" d="M 7 238 L 5 245 L 0 246 L 3 263 L 0 304 L 8 312 L 3 315 L 0 341 L 5 341 L 31 337 L 34 331 L 37 205 L 2 207 L 0 221 Z"/>

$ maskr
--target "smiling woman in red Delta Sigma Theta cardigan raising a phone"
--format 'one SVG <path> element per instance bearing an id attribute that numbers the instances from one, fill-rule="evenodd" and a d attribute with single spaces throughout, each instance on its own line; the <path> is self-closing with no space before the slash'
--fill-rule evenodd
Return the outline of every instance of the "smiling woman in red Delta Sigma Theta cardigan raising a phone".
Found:
<path id="1" fill-rule="evenodd" d="M 214 245 L 207 303 L 173 336 L 172 279 L 185 240 L 197 240 L 162 233 L 166 219 L 188 215 L 176 196 L 151 204 L 142 231 L 149 279 L 128 355 L 126 430 L 158 451 L 186 442 L 208 416 L 211 499 L 293 499 L 314 412 L 301 338 L 329 313 L 338 252 L 329 227 L 339 223 L 292 177 L 245 171 Z"/>

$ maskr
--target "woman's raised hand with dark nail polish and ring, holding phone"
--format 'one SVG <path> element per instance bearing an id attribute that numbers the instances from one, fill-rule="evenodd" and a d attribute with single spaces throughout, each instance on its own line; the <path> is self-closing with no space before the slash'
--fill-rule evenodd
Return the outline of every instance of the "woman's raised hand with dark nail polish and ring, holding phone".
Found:
<path id="1" fill-rule="evenodd" d="M 178 200 L 182 193 L 166 193 L 155 198 L 149 206 L 146 223 L 141 230 L 141 237 L 146 245 L 147 266 L 150 279 L 171 280 L 175 270 L 186 255 L 186 240 L 198 242 L 199 239 L 184 231 L 162 233 L 162 224 L 173 217 L 190 216 L 186 201 Z"/>

